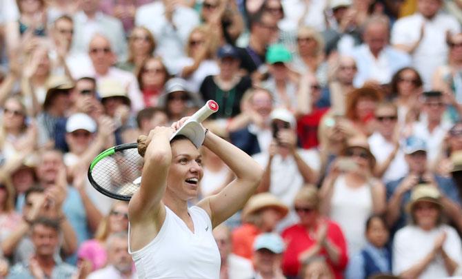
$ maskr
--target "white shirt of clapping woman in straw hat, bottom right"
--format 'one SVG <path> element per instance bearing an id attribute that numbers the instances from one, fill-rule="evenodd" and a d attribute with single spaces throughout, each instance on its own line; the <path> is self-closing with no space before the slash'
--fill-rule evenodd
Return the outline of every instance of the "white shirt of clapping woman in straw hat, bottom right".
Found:
<path id="1" fill-rule="evenodd" d="M 462 264 L 461 239 L 456 230 L 448 225 L 441 225 L 431 231 L 414 225 L 408 225 L 396 232 L 393 242 L 393 274 L 399 275 L 410 269 L 417 262 L 427 256 L 434 247 L 435 239 L 446 231 L 446 240 L 443 244 L 444 251 L 459 265 Z M 421 273 L 419 279 L 434 279 L 448 277 L 443 258 L 436 256 L 430 265 Z"/>

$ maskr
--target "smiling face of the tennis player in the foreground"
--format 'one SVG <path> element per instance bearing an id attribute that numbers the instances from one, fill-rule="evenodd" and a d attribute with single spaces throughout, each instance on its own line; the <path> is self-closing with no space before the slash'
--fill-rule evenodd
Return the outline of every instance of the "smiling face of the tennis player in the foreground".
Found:
<path id="1" fill-rule="evenodd" d="M 202 176 L 202 157 L 199 150 L 187 139 L 174 141 L 167 190 L 182 200 L 195 198 Z"/>

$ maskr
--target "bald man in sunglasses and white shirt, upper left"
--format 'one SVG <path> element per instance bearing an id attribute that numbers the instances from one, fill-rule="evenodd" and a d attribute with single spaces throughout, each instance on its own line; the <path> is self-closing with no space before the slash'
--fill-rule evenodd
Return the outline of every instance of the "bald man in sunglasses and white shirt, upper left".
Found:
<path id="1" fill-rule="evenodd" d="M 93 76 L 98 85 L 103 80 L 117 80 L 128 90 L 128 98 L 131 101 L 131 108 L 134 112 L 143 109 L 144 103 L 137 78 L 131 72 L 115 68 L 115 54 L 112 52 L 110 41 L 101 34 L 92 37 L 88 46 L 88 56 L 91 65 L 89 67 L 70 67 L 74 79 L 83 76 Z"/>

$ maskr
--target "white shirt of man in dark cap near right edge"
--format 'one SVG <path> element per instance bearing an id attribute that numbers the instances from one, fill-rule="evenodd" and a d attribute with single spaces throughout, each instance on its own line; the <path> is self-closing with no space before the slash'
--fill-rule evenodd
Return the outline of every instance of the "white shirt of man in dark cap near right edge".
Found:
<path id="1" fill-rule="evenodd" d="M 451 126 L 450 123 L 440 123 L 440 125 L 436 126 L 430 133 L 427 121 L 420 121 L 412 125 L 412 134 L 423 139 L 427 143 L 427 158 L 430 165 L 435 163 L 444 137 L 451 129 Z"/>

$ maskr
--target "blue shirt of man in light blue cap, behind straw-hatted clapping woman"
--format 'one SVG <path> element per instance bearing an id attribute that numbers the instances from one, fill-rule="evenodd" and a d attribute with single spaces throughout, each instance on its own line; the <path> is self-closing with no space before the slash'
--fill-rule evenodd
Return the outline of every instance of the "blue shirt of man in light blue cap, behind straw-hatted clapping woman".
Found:
<path id="1" fill-rule="evenodd" d="M 454 183 L 454 180 L 452 178 L 445 178 L 443 176 L 434 176 L 434 179 L 436 180 L 436 184 L 438 185 L 439 189 L 441 190 L 441 193 L 450 198 L 450 200 L 453 200 L 455 203 L 458 203 L 461 205 L 461 199 L 459 197 L 459 189 L 457 188 L 456 183 Z M 386 185 L 386 191 L 387 191 L 387 200 L 390 200 L 390 198 L 393 196 L 394 192 L 396 189 L 399 187 L 401 182 L 404 180 L 403 178 L 399 178 L 399 180 L 394 180 Z M 399 216 L 398 220 L 396 220 L 396 223 L 394 223 L 394 226 L 392 227 L 392 234 L 394 234 L 398 229 L 401 229 L 405 225 L 407 225 L 408 221 L 408 215 L 405 214 L 405 205 L 407 205 L 410 201 L 411 198 L 411 192 L 405 192 L 403 195 L 403 200 L 401 200 L 401 215 Z"/>

